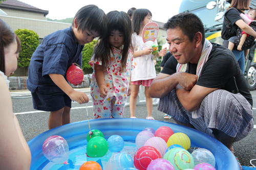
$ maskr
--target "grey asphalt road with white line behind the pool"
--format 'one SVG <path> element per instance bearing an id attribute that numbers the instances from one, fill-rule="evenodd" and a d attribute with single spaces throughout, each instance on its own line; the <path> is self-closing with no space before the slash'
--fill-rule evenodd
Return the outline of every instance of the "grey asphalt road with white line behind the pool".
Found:
<path id="1" fill-rule="evenodd" d="M 90 95 L 89 88 L 77 89 L 79 91 L 84 91 Z M 256 124 L 256 90 L 251 91 L 253 97 L 253 117 L 254 124 Z M 22 128 L 23 134 L 27 141 L 33 137 L 39 135 L 42 132 L 48 130 L 48 118 L 49 112 L 40 112 L 33 109 L 32 98 L 29 97 L 29 91 L 11 91 L 13 112 L 16 114 L 20 127 Z M 143 96 L 143 90 L 140 90 L 140 102 L 137 102 L 136 107 L 136 117 L 146 118 L 146 105 Z M 27 97 L 26 99 L 24 99 Z M 23 98 L 23 99 L 16 99 Z M 89 119 L 93 119 L 93 108 L 92 100 L 88 103 Z M 156 120 L 161 120 L 164 122 L 175 123 L 173 119 L 164 119 L 163 113 L 157 110 L 157 106 L 153 106 L 153 117 Z M 85 120 L 87 116 L 86 104 L 79 105 L 76 102 L 72 103 L 71 110 L 71 123 Z M 123 117 L 130 117 L 129 106 L 125 107 Z M 255 127 L 255 126 L 254 126 Z M 250 160 L 256 159 L 256 129 L 254 128 L 249 136 L 245 139 L 233 144 L 234 154 L 239 158 L 241 165 L 251 166 Z M 256 165 L 256 161 L 252 162 Z"/>

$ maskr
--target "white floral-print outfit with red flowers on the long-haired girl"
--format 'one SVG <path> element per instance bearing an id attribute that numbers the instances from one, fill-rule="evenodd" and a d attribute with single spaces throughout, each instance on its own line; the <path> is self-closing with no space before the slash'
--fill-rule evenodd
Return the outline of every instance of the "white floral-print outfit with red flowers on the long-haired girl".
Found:
<path id="1" fill-rule="evenodd" d="M 93 71 L 92 79 L 91 79 L 91 96 L 94 101 L 94 113 L 101 113 L 101 110 L 97 108 L 97 105 L 104 105 L 104 103 L 108 103 L 110 99 L 115 98 L 115 105 L 123 105 L 127 100 L 127 93 L 129 90 L 129 83 L 131 79 L 131 71 L 135 68 L 136 62 L 134 61 L 132 51 L 129 51 L 129 55 L 126 61 L 126 68 L 122 72 L 121 71 L 121 59 L 122 54 L 120 50 L 112 46 L 112 52 L 110 61 L 107 61 L 108 67 L 104 70 L 104 80 L 105 86 L 108 88 L 108 95 L 106 98 L 103 98 L 99 92 L 99 86 L 97 84 L 95 78 L 95 71 Z M 96 60 L 94 56 L 90 60 L 89 64 L 94 69 L 94 64 L 102 65 L 102 62 Z M 121 108 L 121 110 L 123 110 Z M 100 111 L 100 112 L 99 112 Z M 100 115 L 95 115 L 97 118 L 102 118 Z"/>

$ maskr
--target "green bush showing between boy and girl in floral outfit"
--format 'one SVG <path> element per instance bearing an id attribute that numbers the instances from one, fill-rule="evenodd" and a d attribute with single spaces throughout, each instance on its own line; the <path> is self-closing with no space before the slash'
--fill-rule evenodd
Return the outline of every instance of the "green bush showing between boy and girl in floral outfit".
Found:
<path id="1" fill-rule="evenodd" d="M 89 61 L 93 55 L 93 48 L 96 44 L 97 40 L 93 40 L 90 43 L 84 44 L 84 47 L 82 49 L 82 69 L 87 70 L 89 68 L 92 68 L 89 64 Z"/>

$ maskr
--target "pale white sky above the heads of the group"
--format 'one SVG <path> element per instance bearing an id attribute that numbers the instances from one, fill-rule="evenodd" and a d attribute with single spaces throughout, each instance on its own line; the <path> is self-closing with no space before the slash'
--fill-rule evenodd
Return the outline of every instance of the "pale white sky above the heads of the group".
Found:
<path id="1" fill-rule="evenodd" d="M 156 0 L 128 0 L 128 1 L 117 1 L 117 0 L 73 0 L 73 1 L 61 1 L 61 0 L 19 0 L 23 3 L 32 5 L 41 10 L 49 11 L 47 15 L 51 19 L 65 19 L 74 17 L 76 12 L 83 6 L 86 5 L 97 5 L 105 13 L 110 11 L 124 11 L 127 12 L 130 8 L 146 8 L 152 13 L 152 20 L 159 22 L 166 22 L 173 15 L 178 14 L 179 7 L 182 0 L 171 0 L 171 1 L 156 1 Z M 164 3 L 168 2 L 168 3 Z"/>

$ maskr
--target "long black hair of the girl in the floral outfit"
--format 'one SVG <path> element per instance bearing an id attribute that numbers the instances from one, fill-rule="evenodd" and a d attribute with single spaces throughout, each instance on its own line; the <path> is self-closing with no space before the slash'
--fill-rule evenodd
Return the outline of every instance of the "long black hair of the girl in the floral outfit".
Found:
<path id="1" fill-rule="evenodd" d="M 95 59 L 102 61 L 102 66 L 107 67 L 110 61 L 112 52 L 111 44 L 109 42 L 112 31 L 118 30 L 123 34 L 124 44 L 122 48 L 121 71 L 126 67 L 126 60 L 129 54 L 129 47 L 132 43 L 133 26 L 128 14 L 121 11 L 111 11 L 106 14 L 108 17 L 108 32 L 94 47 Z"/>

